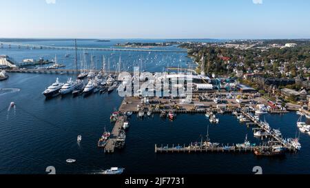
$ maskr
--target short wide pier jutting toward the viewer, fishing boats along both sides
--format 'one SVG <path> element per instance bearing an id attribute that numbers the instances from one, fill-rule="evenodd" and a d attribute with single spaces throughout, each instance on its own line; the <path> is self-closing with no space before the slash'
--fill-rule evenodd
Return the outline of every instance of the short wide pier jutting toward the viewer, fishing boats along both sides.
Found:
<path id="1" fill-rule="evenodd" d="M 104 149 L 105 153 L 114 153 L 117 138 L 121 132 L 124 122 L 125 122 L 125 116 L 119 116 L 114 125 L 111 136 L 109 140 L 107 140 L 107 145 L 105 145 L 105 149 Z"/>

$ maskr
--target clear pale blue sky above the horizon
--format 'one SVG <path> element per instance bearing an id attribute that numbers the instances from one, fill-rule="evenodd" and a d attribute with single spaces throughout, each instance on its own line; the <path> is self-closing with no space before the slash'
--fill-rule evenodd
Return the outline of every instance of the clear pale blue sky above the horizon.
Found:
<path id="1" fill-rule="evenodd" d="M 0 0 L 0 38 L 308 39 L 308 0 Z"/>

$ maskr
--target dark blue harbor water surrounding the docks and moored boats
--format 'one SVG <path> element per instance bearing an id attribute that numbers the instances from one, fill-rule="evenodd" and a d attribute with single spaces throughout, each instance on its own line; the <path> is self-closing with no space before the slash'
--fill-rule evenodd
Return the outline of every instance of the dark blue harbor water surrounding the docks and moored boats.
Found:
<path id="1" fill-rule="evenodd" d="M 139 40 L 141 41 L 141 40 Z M 80 47 L 112 48 L 115 43 L 78 41 Z M 134 42 L 134 41 L 130 41 Z M 146 41 L 149 42 L 149 41 Z M 157 42 L 157 41 L 156 41 Z M 25 42 L 42 45 L 69 46 L 72 41 Z M 178 49 L 176 46 L 165 49 Z M 71 54 L 65 58 L 65 54 Z M 65 68 L 74 68 L 74 53 L 61 50 L 0 49 L 0 54 L 22 59 L 53 59 L 57 54 L 59 63 Z M 81 53 L 81 52 L 80 52 Z M 161 52 L 89 52 L 100 57 L 97 67 L 101 68 L 101 56 L 110 57 L 111 70 L 115 69 L 119 56 L 124 62 L 123 70 L 143 59 L 143 69 L 161 72 L 167 66 L 187 67 L 192 60 L 186 53 Z M 98 58 L 99 59 L 99 58 Z M 140 64 L 139 64 L 140 65 Z M 48 166 L 54 166 L 57 174 L 93 174 L 110 167 L 124 167 L 126 174 L 253 174 L 255 166 L 262 167 L 264 174 L 309 174 L 310 136 L 300 134 L 302 149 L 297 154 L 265 158 L 254 154 L 156 154 L 154 146 L 189 145 L 200 142 L 206 136 L 209 124 L 211 142 L 223 145 L 243 143 L 245 136 L 251 143 L 260 144 L 254 138 L 252 127 L 237 121 L 231 114 L 218 115 L 220 123 L 211 125 L 204 114 L 178 114 L 174 121 L 154 115 L 149 118 L 130 119 L 126 145 L 114 154 L 105 154 L 98 149 L 97 141 L 106 127 L 112 130 L 110 114 L 118 109 L 123 98 L 112 94 L 92 94 L 87 98 L 71 95 L 45 99 L 41 94 L 58 77 L 66 82 L 67 74 L 18 74 L 0 82 L 0 174 L 46 174 Z M 2 89 L 2 90 L 1 90 Z M 8 106 L 14 101 L 16 109 Z M 267 114 L 261 116 L 283 136 L 295 138 L 298 130 L 296 112 L 288 114 Z M 83 136 L 81 143 L 76 136 Z M 65 160 L 76 159 L 68 165 Z"/>

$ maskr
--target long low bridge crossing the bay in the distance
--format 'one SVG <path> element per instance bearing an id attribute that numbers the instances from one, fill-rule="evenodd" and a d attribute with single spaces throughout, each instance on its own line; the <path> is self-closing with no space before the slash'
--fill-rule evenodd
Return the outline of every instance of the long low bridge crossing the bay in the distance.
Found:
<path id="1" fill-rule="evenodd" d="M 18 46 L 18 48 L 32 48 L 32 49 L 50 49 L 50 50 L 75 50 L 75 47 L 72 46 L 52 46 L 52 45 L 36 45 L 36 44 L 26 44 L 26 43 L 8 43 L 0 42 L 3 45 Z M 153 50 L 153 49 L 132 49 L 132 48 L 84 48 L 79 47 L 77 50 L 85 51 L 120 51 L 120 52 L 163 52 L 163 53 L 186 53 L 185 50 Z"/>

